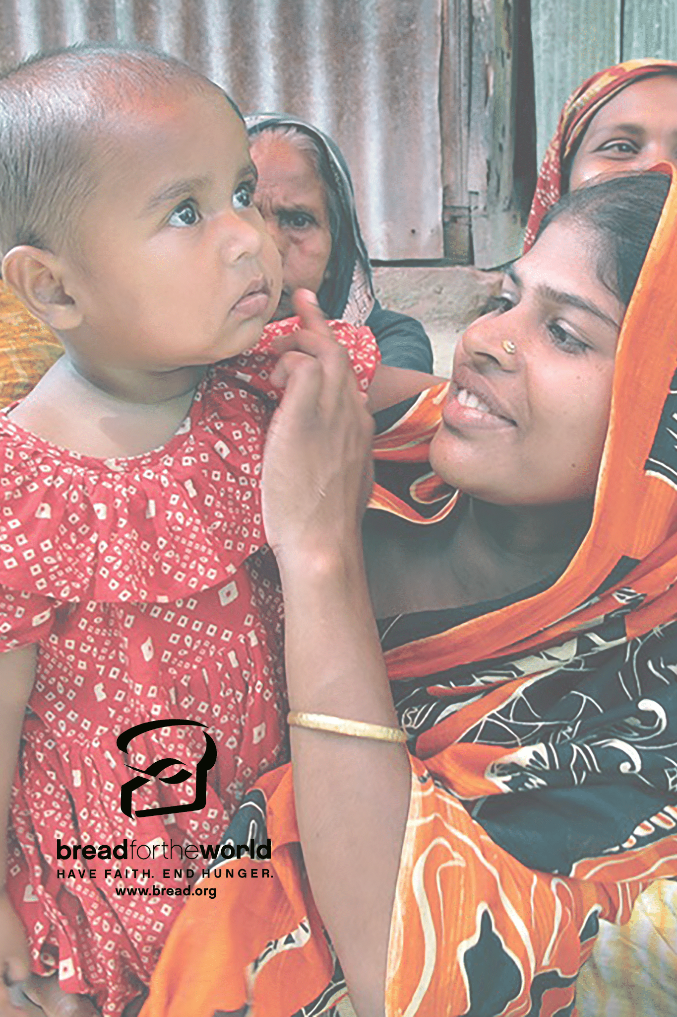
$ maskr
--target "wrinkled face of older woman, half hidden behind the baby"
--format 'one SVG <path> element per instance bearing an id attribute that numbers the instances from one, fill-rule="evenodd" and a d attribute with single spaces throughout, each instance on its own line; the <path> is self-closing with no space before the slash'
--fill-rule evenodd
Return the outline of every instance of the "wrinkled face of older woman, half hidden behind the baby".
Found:
<path id="1" fill-rule="evenodd" d="M 285 138 L 265 132 L 252 141 L 259 171 L 255 201 L 282 256 L 282 295 L 274 320 L 294 313 L 299 287 L 317 293 L 332 252 L 327 198 L 309 157 Z"/>

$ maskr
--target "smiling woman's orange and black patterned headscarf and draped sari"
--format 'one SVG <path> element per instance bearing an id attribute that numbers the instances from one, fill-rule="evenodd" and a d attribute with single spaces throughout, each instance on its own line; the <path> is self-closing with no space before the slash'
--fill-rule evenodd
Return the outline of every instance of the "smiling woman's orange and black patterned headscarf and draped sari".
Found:
<path id="1" fill-rule="evenodd" d="M 573 1015 L 600 917 L 626 921 L 642 889 L 677 876 L 670 172 L 618 340 L 594 517 L 578 553 L 548 589 L 385 644 L 413 750 L 388 1017 Z M 441 386 L 424 395 L 380 439 L 382 456 L 415 460 L 443 396 Z M 407 496 L 405 505 L 378 493 L 375 505 L 413 518 L 418 504 L 428 522 L 454 511 L 449 498 L 439 508 L 429 481 Z M 345 995 L 302 870 L 290 767 L 247 796 L 228 837 L 251 836 L 270 837 L 271 860 L 226 861 L 203 879 L 170 934 L 142 1017 L 215 1017 L 248 1005 L 266 1017 L 310 1017 Z M 356 830 L 355 850 L 378 845 Z"/>

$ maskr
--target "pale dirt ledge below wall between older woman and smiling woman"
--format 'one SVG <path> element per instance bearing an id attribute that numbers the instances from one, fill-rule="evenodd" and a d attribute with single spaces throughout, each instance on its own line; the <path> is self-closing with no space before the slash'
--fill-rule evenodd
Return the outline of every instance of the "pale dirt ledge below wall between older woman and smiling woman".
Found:
<path id="1" fill-rule="evenodd" d="M 434 352 L 435 373 L 448 375 L 456 340 L 500 283 L 497 272 L 452 265 L 374 270 L 377 296 L 394 311 L 422 321 Z"/>

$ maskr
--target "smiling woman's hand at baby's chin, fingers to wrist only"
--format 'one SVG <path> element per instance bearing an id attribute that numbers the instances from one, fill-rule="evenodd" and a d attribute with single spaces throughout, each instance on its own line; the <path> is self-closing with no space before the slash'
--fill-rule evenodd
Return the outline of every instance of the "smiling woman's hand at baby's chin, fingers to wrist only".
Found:
<path id="1" fill-rule="evenodd" d="M 278 557 L 358 540 L 371 484 L 374 422 L 347 354 L 310 291 L 294 303 L 301 328 L 276 344 L 271 379 L 285 392 L 263 463 L 264 526 Z"/>

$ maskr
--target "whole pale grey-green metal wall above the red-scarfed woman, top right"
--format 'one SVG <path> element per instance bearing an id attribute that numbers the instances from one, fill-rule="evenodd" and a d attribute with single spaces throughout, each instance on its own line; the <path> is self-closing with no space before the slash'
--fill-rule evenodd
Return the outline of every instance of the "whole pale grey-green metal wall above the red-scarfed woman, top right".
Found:
<path id="1" fill-rule="evenodd" d="M 677 0 L 531 0 L 531 6 L 539 162 L 561 107 L 585 78 L 620 60 L 677 60 Z"/>

